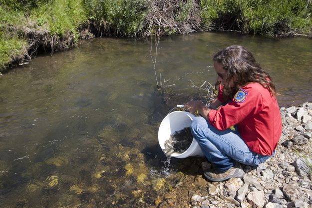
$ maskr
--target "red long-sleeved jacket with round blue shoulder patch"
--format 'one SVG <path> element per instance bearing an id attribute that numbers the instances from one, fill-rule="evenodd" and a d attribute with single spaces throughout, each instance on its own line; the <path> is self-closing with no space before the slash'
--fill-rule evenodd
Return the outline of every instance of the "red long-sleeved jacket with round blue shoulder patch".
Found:
<path id="1" fill-rule="evenodd" d="M 222 86 L 218 99 L 223 100 Z M 238 124 L 238 131 L 251 151 L 272 155 L 282 134 L 282 117 L 275 96 L 260 83 L 240 88 L 234 98 L 209 112 L 209 122 L 219 130 Z"/>

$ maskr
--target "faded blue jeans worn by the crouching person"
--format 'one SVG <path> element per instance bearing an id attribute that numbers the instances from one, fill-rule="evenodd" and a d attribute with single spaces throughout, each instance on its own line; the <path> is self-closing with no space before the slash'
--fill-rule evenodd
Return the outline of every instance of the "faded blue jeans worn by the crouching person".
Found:
<path id="1" fill-rule="evenodd" d="M 218 172 L 230 169 L 236 161 L 253 166 L 271 157 L 252 152 L 238 130 L 228 128 L 220 131 L 201 116 L 193 119 L 191 131 L 208 161 L 213 163 Z"/>

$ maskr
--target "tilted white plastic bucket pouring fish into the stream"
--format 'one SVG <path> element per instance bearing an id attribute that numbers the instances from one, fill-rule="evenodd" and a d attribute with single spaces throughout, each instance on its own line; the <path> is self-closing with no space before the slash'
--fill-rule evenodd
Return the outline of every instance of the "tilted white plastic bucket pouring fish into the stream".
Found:
<path id="1" fill-rule="evenodd" d="M 181 130 L 185 127 L 190 127 L 192 120 L 195 118 L 190 112 L 186 111 L 173 111 L 166 115 L 161 121 L 158 129 L 158 142 L 162 149 L 165 148 L 165 142 L 169 139 L 170 135 L 177 130 Z M 177 158 L 185 158 L 188 156 L 204 156 L 202 149 L 198 142 L 193 138 L 193 141 L 188 149 L 182 153 L 174 152 L 171 156 Z"/>

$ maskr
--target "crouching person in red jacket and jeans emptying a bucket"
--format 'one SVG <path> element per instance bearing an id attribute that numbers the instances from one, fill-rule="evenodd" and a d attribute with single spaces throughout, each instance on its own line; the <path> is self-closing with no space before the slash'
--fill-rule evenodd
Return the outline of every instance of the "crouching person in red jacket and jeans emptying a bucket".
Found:
<path id="1" fill-rule="evenodd" d="M 201 116 L 191 130 L 211 166 L 203 163 L 212 181 L 243 177 L 241 164 L 258 165 L 275 154 L 282 118 L 275 84 L 245 47 L 232 45 L 213 57 L 218 75 L 217 98 L 208 106 L 188 101 L 184 108 Z"/>

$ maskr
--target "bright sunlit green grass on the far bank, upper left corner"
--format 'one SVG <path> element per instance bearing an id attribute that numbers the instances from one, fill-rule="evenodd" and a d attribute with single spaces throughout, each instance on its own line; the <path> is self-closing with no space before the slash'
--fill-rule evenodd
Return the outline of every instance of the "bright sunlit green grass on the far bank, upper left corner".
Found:
<path id="1" fill-rule="evenodd" d="M 59 38 L 67 34 L 75 43 L 87 20 L 82 0 L 0 0 L 0 71 L 27 52 L 29 30 L 47 30 Z"/>

